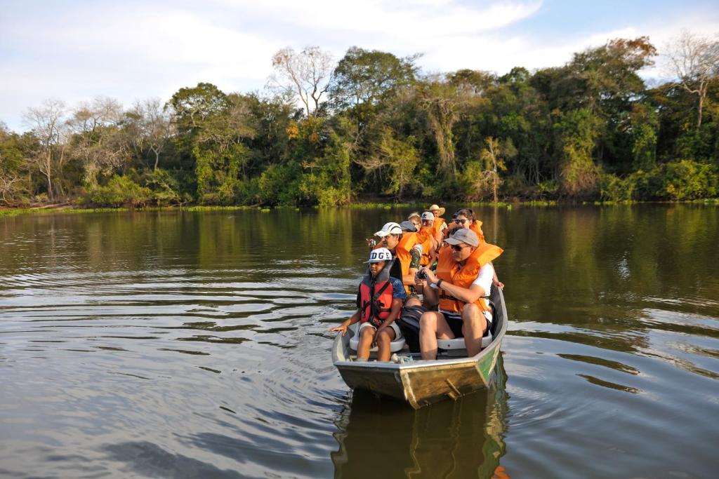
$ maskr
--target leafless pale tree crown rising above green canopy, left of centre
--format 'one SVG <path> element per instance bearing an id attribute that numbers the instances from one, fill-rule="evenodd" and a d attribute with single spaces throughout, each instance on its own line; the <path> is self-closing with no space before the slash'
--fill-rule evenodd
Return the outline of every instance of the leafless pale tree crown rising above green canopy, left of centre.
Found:
<path id="1" fill-rule="evenodd" d="M 286 47 L 273 55 L 272 65 L 275 73 L 270 76 L 270 88 L 288 98 L 299 98 L 307 116 L 316 116 L 334 70 L 329 52 L 320 47 L 305 47 L 297 53 Z"/>

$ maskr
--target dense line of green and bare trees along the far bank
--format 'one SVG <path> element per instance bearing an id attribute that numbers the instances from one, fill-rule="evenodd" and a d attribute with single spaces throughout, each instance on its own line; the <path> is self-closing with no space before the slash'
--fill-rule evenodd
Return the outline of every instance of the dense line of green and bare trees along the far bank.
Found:
<path id="1" fill-rule="evenodd" d="M 285 48 L 262 92 L 49 100 L 27 110 L 25 133 L 0 123 L 0 203 L 716 197 L 719 42 L 684 32 L 668 50 L 676 79 L 656 85 L 638 75 L 657 57 L 639 37 L 505 75 Z"/>

